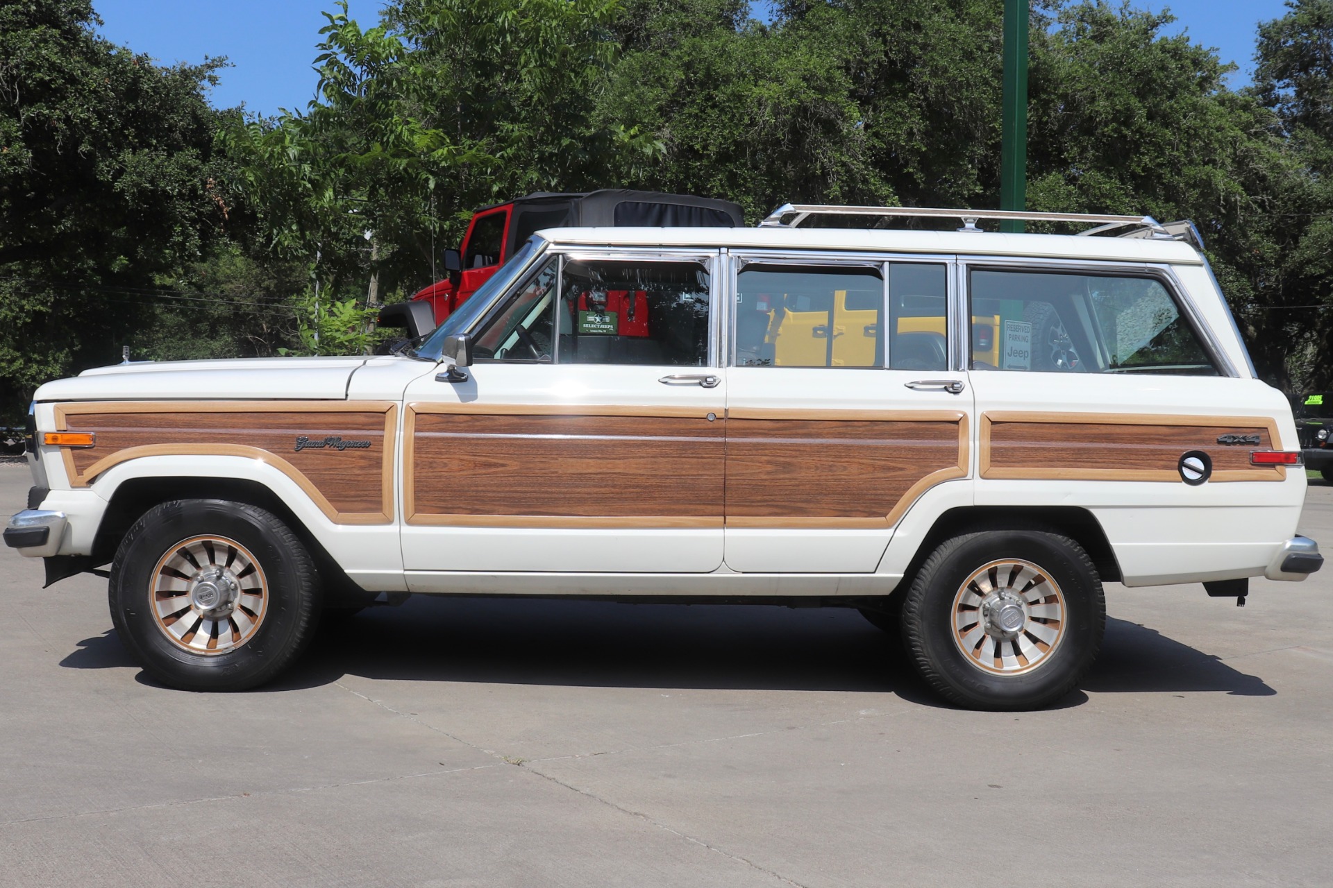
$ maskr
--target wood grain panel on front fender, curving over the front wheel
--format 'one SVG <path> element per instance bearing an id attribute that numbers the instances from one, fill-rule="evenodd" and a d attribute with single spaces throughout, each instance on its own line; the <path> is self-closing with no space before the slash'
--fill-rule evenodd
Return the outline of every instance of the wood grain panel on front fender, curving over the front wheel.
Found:
<path id="1" fill-rule="evenodd" d="M 393 403 L 75 403 L 56 414 L 61 430 L 97 434 L 96 447 L 64 451 L 76 487 L 143 457 L 239 455 L 287 474 L 331 521 L 393 521 Z M 299 438 L 307 439 L 301 449 Z"/>

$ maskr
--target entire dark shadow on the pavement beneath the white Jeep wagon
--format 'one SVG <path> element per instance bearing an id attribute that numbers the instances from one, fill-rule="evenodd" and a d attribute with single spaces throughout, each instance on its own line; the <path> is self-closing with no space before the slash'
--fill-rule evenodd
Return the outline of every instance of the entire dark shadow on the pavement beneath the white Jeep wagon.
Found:
<path id="1" fill-rule="evenodd" d="M 115 630 L 79 642 L 68 668 L 133 668 Z M 305 655 L 257 692 L 321 687 L 357 675 L 397 682 L 583 687 L 892 692 L 948 706 L 889 638 L 842 608 L 432 598 L 320 627 Z M 137 680 L 156 684 L 147 674 Z M 1156 630 L 1109 618 L 1082 682 L 1093 694 L 1276 694 Z M 1082 691 L 1054 708 L 1081 706 Z"/>

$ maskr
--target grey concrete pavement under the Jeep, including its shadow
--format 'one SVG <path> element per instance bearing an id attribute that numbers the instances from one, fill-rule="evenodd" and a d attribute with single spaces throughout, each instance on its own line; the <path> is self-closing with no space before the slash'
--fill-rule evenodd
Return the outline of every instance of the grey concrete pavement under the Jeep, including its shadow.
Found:
<path id="1" fill-rule="evenodd" d="M 1302 531 L 1333 550 L 1333 489 Z M 40 586 L 0 550 L 0 885 L 1329 881 L 1333 570 L 1109 586 L 1084 690 L 1008 715 L 852 611 L 423 596 L 185 694 L 104 580 Z"/>

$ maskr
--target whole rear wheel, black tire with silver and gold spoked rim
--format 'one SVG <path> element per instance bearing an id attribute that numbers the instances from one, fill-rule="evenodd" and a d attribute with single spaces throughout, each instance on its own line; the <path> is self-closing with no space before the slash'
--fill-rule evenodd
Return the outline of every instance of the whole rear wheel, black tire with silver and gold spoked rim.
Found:
<path id="1" fill-rule="evenodd" d="M 902 608 L 912 660 L 974 710 L 1041 708 L 1092 666 L 1106 624 L 1097 570 L 1068 537 L 988 531 L 945 541 Z"/>

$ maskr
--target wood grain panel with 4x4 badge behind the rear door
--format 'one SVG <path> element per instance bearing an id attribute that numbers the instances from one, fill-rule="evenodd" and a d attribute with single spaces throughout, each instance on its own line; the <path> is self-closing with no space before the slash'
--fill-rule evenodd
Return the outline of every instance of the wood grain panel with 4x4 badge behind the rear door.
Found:
<path id="1" fill-rule="evenodd" d="M 1221 445 L 1221 435 L 1258 435 L 1257 445 Z M 1253 466 L 1252 450 L 1278 441 L 1270 419 L 1145 414 L 986 413 L 980 474 L 994 479 L 1165 481 L 1180 483 L 1184 453 L 1213 461 L 1212 482 L 1282 481 L 1281 466 Z"/>

